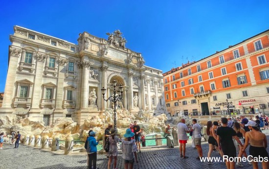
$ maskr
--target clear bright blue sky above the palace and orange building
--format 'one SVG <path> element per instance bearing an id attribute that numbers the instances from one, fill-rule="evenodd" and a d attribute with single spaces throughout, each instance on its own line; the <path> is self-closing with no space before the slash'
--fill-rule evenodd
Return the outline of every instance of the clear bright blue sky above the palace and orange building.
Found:
<path id="1" fill-rule="evenodd" d="M 126 48 L 141 52 L 145 65 L 167 72 L 269 29 L 268 6 L 269 0 L 5 0 L 0 92 L 14 25 L 75 44 L 83 31 L 107 39 L 107 32 L 119 29 Z"/>

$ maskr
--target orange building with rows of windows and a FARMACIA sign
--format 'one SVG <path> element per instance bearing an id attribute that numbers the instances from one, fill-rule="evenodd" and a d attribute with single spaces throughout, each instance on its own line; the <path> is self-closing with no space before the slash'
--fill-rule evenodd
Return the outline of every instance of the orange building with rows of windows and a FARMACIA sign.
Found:
<path id="1" fill-rule="evenodd" d="M 269 114 L 269 30 L 163 76 L 171 115 Z"/>

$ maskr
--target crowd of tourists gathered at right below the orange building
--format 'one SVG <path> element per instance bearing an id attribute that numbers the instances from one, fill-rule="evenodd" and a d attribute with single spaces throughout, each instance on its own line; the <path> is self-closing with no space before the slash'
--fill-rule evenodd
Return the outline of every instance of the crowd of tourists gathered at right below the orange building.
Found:
<path id="1" fill-rule="evenodd" d="M 201 126 L 196 119 L 192 120 L 191 126 L 187 126 L 185 119 L 181 119 L 177 125 L 180 157 L 183 159 L 188 158 L 186 156 L 186 143 L 189 140 L 187 136 L 187 133 L 189 133 L 193 138 L 192 144 L 198 151 L 197 160 L 205 162 L 202 159 L 206 159 L 208 164 L 213 164 L 213 158 L 210 157 L 213 150 L 215 150 L 219 152 L 221 157 L 226 157 L 224 161 L 227 169 L 234 169 L 235 165 L 244 167 L 242 164 L 243 156 L 253 166 L 253 169 L 258 169 L 258 161 L 262 162 L 263 169 L 268 169 L 267 138 L 262 133 L 262 130 L 268 129 L 268 123 L 268 117 L 262 114 L 258 114 L 255 119 L 250 118 L 250 120 L 244 115 L 240 115 L 238 119 L 227 116 L 219 121 L 207 121 L 206 133 L 203 134 L 208 136 L 209 150 L 207 158 L 204 158 L 201 147 L 203 136 Z M 246 152 L 248 145 L 250 145 L 250 156 L 247 156 L 248 153 Z M 238 147 L 238 154 L 236 153 L 236 146 Z M 259 160 L 257 160 L 258 158 Z"/>

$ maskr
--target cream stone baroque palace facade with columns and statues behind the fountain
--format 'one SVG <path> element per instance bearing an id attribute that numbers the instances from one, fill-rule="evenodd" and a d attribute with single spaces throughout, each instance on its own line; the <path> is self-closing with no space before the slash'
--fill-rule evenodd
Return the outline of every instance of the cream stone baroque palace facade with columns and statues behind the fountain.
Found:
<path id="1" fill-rule="evenodd" d="M 44 120 L 71 117 L 78 124 L 112 103 L 112 81 L 124 87 L 122 106 L 131 112 L 164 113 L 162 71 L 147 67 L 141 53 L 125 48 L 119 30 L 108 40 L 87 32 L 78 45 L 14 26 L 10 35 L 9 65 L 0 114 Z M 137 95 L 137 96 L 136 96 Z"/>

